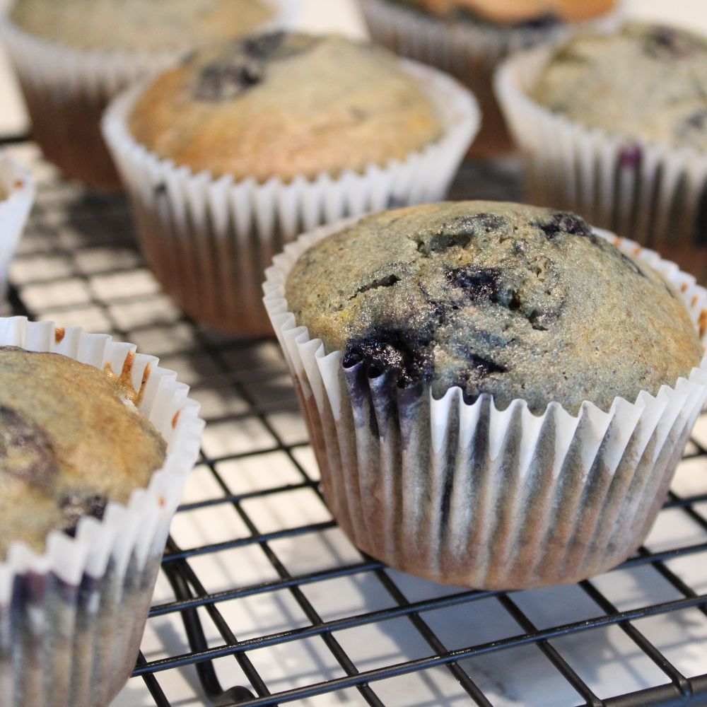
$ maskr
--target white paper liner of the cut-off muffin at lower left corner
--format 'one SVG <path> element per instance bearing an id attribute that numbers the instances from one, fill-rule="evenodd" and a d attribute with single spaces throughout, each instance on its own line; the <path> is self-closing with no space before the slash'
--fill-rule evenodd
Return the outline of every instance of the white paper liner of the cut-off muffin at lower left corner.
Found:
<path id="1" fill-rule="evenodd" d="M 137 658 L 170 520 L 199 452 L 203 421 L 188 386 L 154 356 L 80 327 L 0 318 L 0 346 L 53 351 L 115 373 L 132 366 L 139 409 L 167 442 L 146 489 L 76 537 L 52 532 L 43 554 L 23 542 L 0 562 L 0 694 L 7 707 L 107 705 Z M 148 368 L 147 372 L 146 369 Z"/>

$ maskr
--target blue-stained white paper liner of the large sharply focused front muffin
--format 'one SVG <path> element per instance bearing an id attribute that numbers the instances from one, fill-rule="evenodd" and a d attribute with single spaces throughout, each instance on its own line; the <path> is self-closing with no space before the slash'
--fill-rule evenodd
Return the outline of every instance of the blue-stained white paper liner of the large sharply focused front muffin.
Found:
<path id="1" fill-rule="evenodd" d="M 542 415 L 516 399 L 498 410 L 458 387 L 434 399 L 428 384 L 397 387 L 364 363 L 342 365 L 288 311 L 285 283 L 298 257 L 337 230 L 288 245 L 267 270 L 264 303 L 298 392 L 341 528 L 402 571 L 479 589 L 571 583 L 628 557 L 665 500 L 707 399 L 707 357 L 658 395 L 620 397 L 577 415 L 551 402 Z M 705 341 L 707 291 L 673 263 L 598 232 L 681 293 Z"/>

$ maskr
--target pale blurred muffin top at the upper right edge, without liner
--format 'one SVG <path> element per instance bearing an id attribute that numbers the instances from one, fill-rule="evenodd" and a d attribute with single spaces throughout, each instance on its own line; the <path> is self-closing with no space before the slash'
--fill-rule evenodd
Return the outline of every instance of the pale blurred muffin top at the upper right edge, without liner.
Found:
<path id="1" fill-rule="evenodd" d="M 630 23 L 556 50 L 532 97 L 589 127 L 707 150 L 707 38 Z"/>

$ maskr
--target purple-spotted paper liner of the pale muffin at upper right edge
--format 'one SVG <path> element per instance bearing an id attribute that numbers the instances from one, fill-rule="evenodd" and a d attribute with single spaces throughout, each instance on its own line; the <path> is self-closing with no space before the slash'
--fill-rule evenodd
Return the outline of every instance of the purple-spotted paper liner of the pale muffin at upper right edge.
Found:
<path id="1" fill-rule="evenodd" d="M 576 211 L 707 279 L 707 154 L 585 127 L 530 98 L 551 49 L 510 57 L 498 101 L 526 153 L 527 198 Z"/>

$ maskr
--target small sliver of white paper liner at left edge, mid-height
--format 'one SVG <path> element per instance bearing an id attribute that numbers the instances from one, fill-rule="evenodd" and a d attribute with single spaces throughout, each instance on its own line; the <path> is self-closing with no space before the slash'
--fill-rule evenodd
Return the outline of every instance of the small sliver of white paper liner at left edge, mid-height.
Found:
<path id="1" fill-rule="evenodd" d="M 0 303 L 7 291 L 7 271 L 35 197 L 30 174 L 0 152 Z M 1 304 L 0 304 L 1 306 Z"/>

